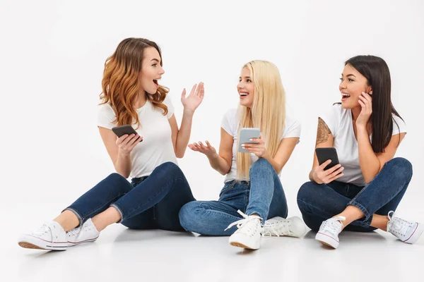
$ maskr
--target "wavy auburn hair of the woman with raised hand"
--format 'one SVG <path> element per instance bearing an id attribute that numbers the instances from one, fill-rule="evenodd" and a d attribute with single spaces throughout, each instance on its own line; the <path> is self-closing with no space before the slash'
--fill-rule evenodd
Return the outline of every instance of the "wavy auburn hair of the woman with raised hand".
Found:
<path id="1" fill-rule="evenodd" d="M 126 38 L 119 43 L 114 54 L 107 58 L 105 71 L 102 79 L 102 94 L 100 104 L 110 103 L 117 117 L 113 123 L 117 125 L 137 124 L 141 125 L 139 115 L 134 103 L 139 95 L 141 63 L 144 49 L 153 47 L 159 52 L 160 66 L 162 66 L 162 54 L 158 44 L 143 38 Z M 155 94 L 148 94 L 146 98 L 153 106 L 163 109 L 163 115 L 167 114 L 167 106 L 163 100 L 169 90 L 160 86 Z"/>

